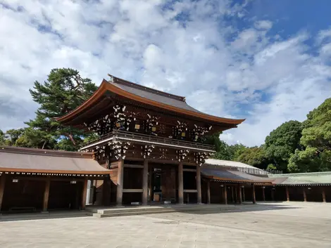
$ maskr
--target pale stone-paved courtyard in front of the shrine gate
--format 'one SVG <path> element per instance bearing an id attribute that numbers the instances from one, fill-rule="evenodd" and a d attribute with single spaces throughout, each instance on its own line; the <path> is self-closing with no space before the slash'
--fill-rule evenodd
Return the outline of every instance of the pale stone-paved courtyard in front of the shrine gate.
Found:
<path id="1" fill-rule="evenodd" d="M 331 247 L 331 204 L 0 222 L 0 247 Z"/>

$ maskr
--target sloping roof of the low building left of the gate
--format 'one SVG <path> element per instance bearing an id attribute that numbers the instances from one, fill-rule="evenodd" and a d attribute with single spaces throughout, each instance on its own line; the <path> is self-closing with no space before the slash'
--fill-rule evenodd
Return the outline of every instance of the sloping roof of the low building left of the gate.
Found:
<path id="1" fill-rule="evenodd" d="M 0 146 L 0 172 L 109 174 L 92 153 Z"/>

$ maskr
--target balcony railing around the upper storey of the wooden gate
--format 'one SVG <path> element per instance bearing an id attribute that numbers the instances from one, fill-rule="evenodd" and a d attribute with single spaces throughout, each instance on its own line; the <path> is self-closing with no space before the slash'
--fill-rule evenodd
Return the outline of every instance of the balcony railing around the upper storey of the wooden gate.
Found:
<path id="1" fill-rule="evenodd" d="M 142 143 L 142 144 L 150 144 L 156 146 L 165 146 L 165 147 L 173 147 L 173 148 L 182 148 L 188 150 L 196 150 L 196 151 L 205 151 L 205 152 L 214 152 L 213 145 L 206 145 L 201 143 L 194 143 L 189 141 L 180 141 L 175 140 L 173 138 L 163 138 L 158 136 L 151 136 L 142 133 L 132 133 L 129 131 L 116 130 L 111 133 L 107 133 L 100 138 L 91 141 L 84 145 L 80 150 L 85 150 L 88 148 L 93 148 L 96 145 L 104 145 L 113 139 L 118 139 L 122 141 L 131 141 L 132 143 Z"/>

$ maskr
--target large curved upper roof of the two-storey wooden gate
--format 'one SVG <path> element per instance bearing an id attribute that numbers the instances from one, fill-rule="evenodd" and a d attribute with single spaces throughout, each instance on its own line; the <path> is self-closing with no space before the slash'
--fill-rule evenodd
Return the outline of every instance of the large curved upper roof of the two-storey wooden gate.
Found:
<path id="1" fill-rule="evenodd" d="M 68 122 L 70 119 L 75 119 L 75 117 L 80 115 L 89 107 L 98 103 L 107 91 L 113 92 L 118 96 L 123 96 L 125 98 L 135 100 L 139 103 L 161 107 L 163 110 L 170 110 L 183 115 L 189 115 L 191 117 L 198 117 L 209 122 L 232 125 L 237 125 L 244 122 L 244 119 L 229 119 L 207 115 L 203 112 L 200 112 L 199 110 L 194 109 L 194 107 L 189 106 L 185 102 L 185 98 L 182 96 L 175 96 L 163 91 L 150 89 L 148 87 L 134 84 L 130 81 L 125 81 L 113 76 L 111 76 L 111 81 L 106 81 L 104 79 L 99 86 L 99 89 L 97 89 L 89 99 L 82 103 L 82 105 L 77 107 L 72 112 L 69 112 L 67 115 L 57 118 L 57 120 L 59 122 Z"/>

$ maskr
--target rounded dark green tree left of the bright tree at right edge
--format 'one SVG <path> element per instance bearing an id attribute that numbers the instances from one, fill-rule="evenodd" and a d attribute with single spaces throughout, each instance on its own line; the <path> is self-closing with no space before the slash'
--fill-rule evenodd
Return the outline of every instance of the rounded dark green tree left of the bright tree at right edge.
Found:
<path id="1" fill-rule="evenodd" d="M 296 149 L 301 148 L 301 131 L 301 122 L 289 121 L 278 126 L 266 137 L 266 155 L 272 159 L 277 169 L 287 171 L 289 157 Z"/>

